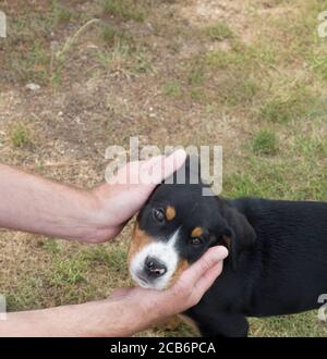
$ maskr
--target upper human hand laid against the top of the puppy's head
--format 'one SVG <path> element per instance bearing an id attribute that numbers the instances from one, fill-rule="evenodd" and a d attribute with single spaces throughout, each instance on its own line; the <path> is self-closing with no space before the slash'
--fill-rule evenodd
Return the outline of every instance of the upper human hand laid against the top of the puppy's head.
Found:
<path id="1" fill-rule="evenodd" d="M 167 158 L 158 156 L 147 161 L 130 162 L 118 171 L 112 181 L 114 184 L 104 184 L 93 189 L 90 198 L 94 206 L 90 221 L 95 231 L 92 238 L 83 240 L 101 243 L 117 236 L 146 202 L 155 187 L 177 171 L 185 159 L 186 153 L 177 150 Z M 137 182 L 140 175 L 147 174 L 150 174 L 152 183 L 134 184 L 133 180 L 136 178 Z M 128 182 L 121 184 L 122 178 L 128 178 Z"/>

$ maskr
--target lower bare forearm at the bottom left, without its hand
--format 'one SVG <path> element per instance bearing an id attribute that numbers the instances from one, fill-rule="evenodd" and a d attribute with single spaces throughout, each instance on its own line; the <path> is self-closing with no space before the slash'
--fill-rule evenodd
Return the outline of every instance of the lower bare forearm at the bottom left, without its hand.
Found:
<path id="1" fill-rule="evenodd" d="M 138 319 L 121 301 L 101 300 L 9 313 L 0 321 L 3 336 L 130 336 Z"/>

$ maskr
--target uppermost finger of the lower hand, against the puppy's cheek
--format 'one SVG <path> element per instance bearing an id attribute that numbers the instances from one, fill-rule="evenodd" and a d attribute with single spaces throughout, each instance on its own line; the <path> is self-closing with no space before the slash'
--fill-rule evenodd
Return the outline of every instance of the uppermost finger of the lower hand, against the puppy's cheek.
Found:
<path id="1" fill-rule="evenodd" d="M 204 256 L 192 264 L 180 276 L 180 281 L 195 284 L 205 273 L 213 267 L 217 265 L 221 260 L 228 256 L 228 250 L 223 246 L 217 246 L 209 248 Z"/>

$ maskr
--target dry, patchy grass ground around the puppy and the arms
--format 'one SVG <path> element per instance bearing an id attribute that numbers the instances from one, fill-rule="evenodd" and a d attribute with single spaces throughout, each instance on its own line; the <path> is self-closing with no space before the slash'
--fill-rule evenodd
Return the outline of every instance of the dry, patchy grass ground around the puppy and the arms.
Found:
<path id="1" fill-rule="evenodd" d="M 327 199 L 327 40 L 316 33 L 326 1 L 0 0 L 0 10 L 1 162 L 90 188 L 106 148 L 131 136 L 219 145 L 225 196 Z M 131 226 L 96 247 L 1 231 L 9 310 L 131 284 Z M 316 312 L 251 320 L 253 336 L 326 334 Z"/>

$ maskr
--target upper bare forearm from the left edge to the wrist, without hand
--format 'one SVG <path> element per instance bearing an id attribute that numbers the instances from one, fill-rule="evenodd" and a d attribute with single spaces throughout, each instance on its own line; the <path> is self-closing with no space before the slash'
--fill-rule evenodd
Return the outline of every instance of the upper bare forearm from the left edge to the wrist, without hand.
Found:
<path id="1" fill-rule="evenodd" d="M 96 236 L 89 193 L 0 164 L 0 226 L 64 238 Z"/>

